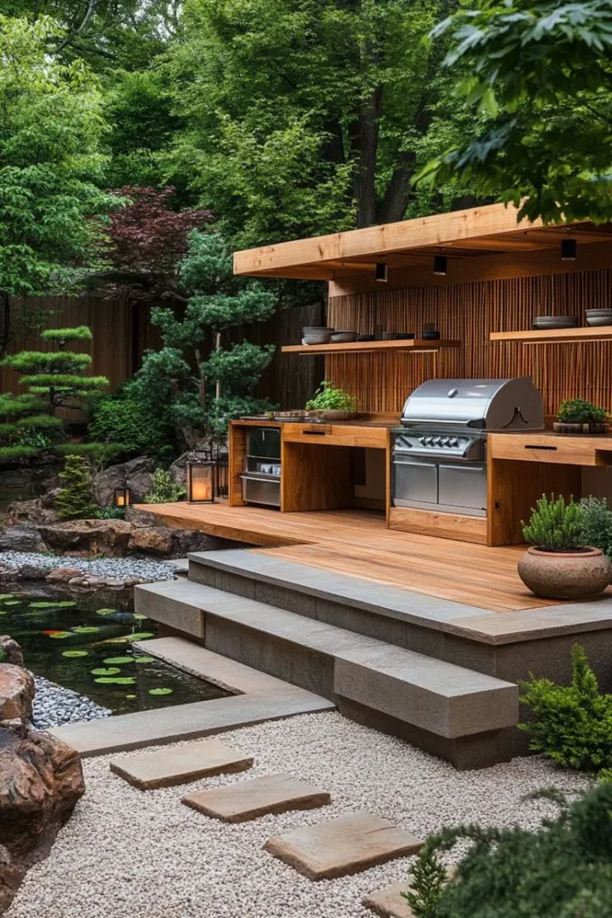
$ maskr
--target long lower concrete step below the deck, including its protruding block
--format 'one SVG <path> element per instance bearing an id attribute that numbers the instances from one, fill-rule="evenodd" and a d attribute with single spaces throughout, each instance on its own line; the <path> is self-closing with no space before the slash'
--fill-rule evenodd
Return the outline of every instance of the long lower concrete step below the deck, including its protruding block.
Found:
<path id="1" fill-rule="evenodd" d="M 143 584 L 135 601 L 207 649 L 317 692 L 457 767 L 473 767 L 481 752 L 486 764 L 496 760 L 496 734 L 517 723 L 515 684 L 325 621 L 190 580 Z"/>

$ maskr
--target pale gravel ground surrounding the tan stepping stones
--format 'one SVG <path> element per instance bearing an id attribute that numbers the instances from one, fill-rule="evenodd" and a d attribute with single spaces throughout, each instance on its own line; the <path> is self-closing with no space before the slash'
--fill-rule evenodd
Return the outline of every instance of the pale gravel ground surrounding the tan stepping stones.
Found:
<path id="1" fill-rule="evenodd" d="M 222 739 L 254 754 L 248 774 L 141 791 L 110 774 L 108 757 L 85 760 L 87 793 L 50 857 L 29 872 L 7 918 L 372 918 L 362 896 L 404 879 L 408 858 L 313 883 L 262 845 L 272 835 L 360 809 L 419 836 L 443 823 L 535 827 L 556 811 L 547 801 L 521 802 L 525 794 L 586 785 L 540 758 L 456 772 L 336 712 L 263 723 Z M 331 791 L 331 806 L 227 825 L 180 802 L 185 789 L 284 770 Z"/>

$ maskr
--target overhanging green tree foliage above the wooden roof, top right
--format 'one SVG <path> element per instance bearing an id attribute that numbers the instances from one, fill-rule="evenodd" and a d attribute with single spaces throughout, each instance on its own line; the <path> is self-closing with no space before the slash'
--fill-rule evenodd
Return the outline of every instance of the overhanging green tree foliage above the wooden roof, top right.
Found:
<path id="1" fill-rule="evenodd" d="M 609 0 L 480 0 L 432 36 L 434 47 L 451 39 L 457 96 L 488 123 L 430 162 L 421 180 L 523 200 L 520 216 L 530 219 L 612 218 Z"/>

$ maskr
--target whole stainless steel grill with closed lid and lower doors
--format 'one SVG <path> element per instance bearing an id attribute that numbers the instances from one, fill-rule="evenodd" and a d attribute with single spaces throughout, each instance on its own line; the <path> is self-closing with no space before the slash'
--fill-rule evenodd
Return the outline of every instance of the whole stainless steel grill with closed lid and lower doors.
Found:
<path id="1" fill-rule="evenodd" d="M 431 379 L 406 398 L 394 431 L 395 506 L 486 515 L 486 434 L 540 431 L 544 410 L 529 376 Z"/>

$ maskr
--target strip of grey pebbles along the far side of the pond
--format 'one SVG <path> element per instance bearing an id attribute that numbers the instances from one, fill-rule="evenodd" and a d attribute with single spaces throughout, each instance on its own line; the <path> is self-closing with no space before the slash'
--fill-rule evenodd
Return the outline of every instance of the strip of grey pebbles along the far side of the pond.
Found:
<path id="1" fill-rule="evenodd" d="M 41 554 L 39 552 L 0 552 L 0 565 L 11 570 L 20 570 L 24 565 L 32 565 L 50 571 L 56 567 L 72 567 L 95 577 L 139 577 L 140 580 L 152 583 L 155 580 L 172 580 L 174 568 L 164 561 L 147 561 L 140 558 L 86 558 L 66 557 L 61 554 Z"/>

